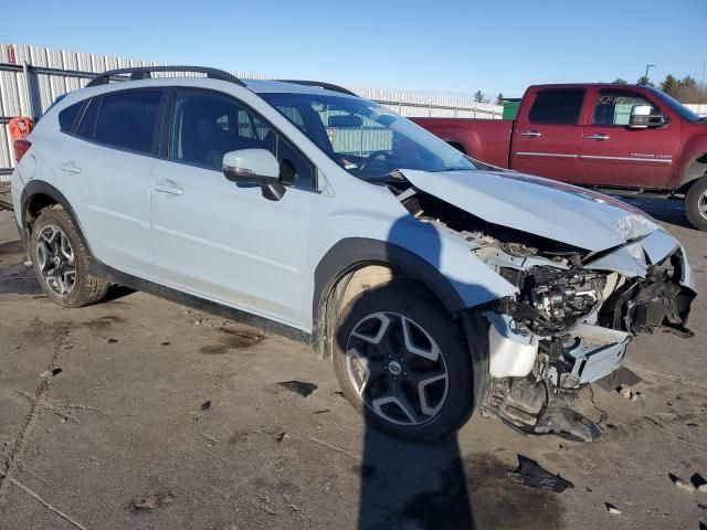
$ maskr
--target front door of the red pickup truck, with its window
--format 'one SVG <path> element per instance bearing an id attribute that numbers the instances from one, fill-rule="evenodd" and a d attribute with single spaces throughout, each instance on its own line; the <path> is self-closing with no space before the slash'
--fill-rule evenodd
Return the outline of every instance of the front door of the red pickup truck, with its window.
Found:
<path id="1" fill-rule="evenodd" d="M 668 188 L 679 150 L 679 120 L 657 128 L 630 129 L 633 105 L 651 105 L 652 114 L 665 112 L 648 96 L 630 88 L 598 89 L 591 97 L 592 113 L 579 160 L 580 181 L 620 188 Z"/>

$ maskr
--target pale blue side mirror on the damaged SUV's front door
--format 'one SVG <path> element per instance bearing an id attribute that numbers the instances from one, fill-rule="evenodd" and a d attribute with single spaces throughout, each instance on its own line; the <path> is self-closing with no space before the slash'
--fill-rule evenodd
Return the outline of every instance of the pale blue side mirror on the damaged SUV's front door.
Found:
<path id="1" fill-rule="evenodd" d="M 267 149 L 226 152 L 223 176 L 238 184 L 260 184 L 263 197 L 271 201 L 279 201 L 286 191 L 279 182 L 279 163 Z"/>

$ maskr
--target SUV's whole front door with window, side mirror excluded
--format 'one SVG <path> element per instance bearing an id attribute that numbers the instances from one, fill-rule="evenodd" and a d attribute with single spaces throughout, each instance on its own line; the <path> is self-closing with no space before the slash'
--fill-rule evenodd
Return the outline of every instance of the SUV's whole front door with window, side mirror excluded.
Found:
<path id="1" fill-rule="evenodd" d="M 297 327 L 316 169 L 231 96 L 179 89 L 172 107 L 167 159 L 152 172 L 160 280 Z M 278 158 L 288 184 L 279 201 L 224 178 L 223 155 L 245 148 Z"/>

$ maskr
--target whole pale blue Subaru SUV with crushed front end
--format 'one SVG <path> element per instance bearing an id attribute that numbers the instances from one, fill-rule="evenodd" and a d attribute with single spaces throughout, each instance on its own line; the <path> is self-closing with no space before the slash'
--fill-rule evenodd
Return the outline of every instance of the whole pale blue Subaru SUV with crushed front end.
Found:
<path id="1" fill-rule="evenodd" d="M 49 297 L 93 304 L 113 283 L 226 307 L 331 358 L 397 435 L 436 439 L 477 410 L 592 439 L 570 409 L 582 385 L 639 332 L 690 335 L 685 251 L 643 212 L 485 166 L 334 85 L 113 71 L 17 147 Z"/>

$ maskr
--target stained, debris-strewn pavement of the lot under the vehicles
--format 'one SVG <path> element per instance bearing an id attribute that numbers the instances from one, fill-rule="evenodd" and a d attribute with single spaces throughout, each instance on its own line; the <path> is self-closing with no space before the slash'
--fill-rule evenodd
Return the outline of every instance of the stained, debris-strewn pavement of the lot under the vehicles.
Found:
<path id="1" fill-rule="evenodd" d="M 635 201 L 687 247 L 680 203 Z M 558 221 L 559 222 L 559 221 Z M 444 529 L 707 524 L 707 307 L 690 340 L 630 347 L 642 399 L 593 385 L 594 443 L 525 437 L 474 416 L 420 446 L 368 428 L 308 347 L 141 293 L 62 309 L 0 212 L 0 528 Z M 570 480 L 513 484 L 518 455 Z M 620 513 L 611 513 L 606 504 Z"/>

